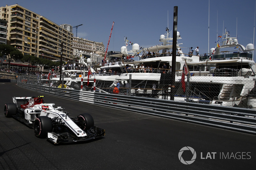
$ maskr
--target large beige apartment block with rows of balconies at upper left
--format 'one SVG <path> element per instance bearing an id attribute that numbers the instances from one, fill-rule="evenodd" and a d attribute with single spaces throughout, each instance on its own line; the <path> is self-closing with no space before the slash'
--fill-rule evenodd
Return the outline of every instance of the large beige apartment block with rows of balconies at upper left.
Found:
<path id="1" fill-rule="evenodd" d="M 63 42 L 63 60 L 73 58 L 73 33 L 51 20 L 18 4 L 0 7 L 0 18 L 7 23 L 7 44 L 24 55 L 59 60 Z"/>

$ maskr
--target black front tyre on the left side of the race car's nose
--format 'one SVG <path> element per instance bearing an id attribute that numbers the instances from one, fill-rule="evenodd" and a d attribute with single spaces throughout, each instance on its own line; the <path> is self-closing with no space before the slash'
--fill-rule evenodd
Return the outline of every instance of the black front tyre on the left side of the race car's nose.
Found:
<path id="1" fill-rule="evenodd" d="M 38 116 L 34 122 L 36 137 L 45 138 L 47 132 L 52 132 L 52 121 L 47 116 Z"/>

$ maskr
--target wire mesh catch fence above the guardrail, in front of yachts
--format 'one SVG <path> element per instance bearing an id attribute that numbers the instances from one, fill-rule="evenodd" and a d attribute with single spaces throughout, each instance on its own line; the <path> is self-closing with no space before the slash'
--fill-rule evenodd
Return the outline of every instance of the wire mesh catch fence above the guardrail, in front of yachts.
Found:
<path id="1" fill-rule="evenodd" d="M 145 71 L 144 71 L 145 70 Z M 254 108 L 256 103 L 255 78 L 252 72 L 238 71 L 235 69 L 214 69 L 209 71 L 195 71 L 183 75 L 182 70 L 177 70 L 172 85 L 171 70 L 153 69 L 155 71 L 127 70 L 123 73 L 94 73 L 89 78 L 87 86 L 87 75 L 84 75 L 82 83 L 84 91 L 95 91 L 113 94 L 115 85 L 119 95 L 139 96 L 143 98 L 157 98 L 170 100 L 174 96 L 177 101 L 189 101 L 194 103 L 205 103 L 220 106 Z M 69 75 L 70 76 L 70 75 Z M 63 74 L 62 79 L 54 78 L 53 75 L 19 76 L 18 81 L 58 87 L 66 84 L 67 88 L 80 90 L 81 78 L 79 74 L 74 75 L 73 82 L 65 80 L 68 76 Z M 94 88 L 94 79 L 95 88 Z M 171 91 L 172 90 L 172 91 Z"/>

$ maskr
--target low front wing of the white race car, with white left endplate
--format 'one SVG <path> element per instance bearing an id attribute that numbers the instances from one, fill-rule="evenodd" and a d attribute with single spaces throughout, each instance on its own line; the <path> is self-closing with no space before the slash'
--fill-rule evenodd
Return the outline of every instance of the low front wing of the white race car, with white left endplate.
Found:
<path id="1" fill-rule="evenodd" d="M 105 129 L 98 128 L 96 126 L 88 129 L 86 132 L 86 137 L 77 138 L 76 136 L 72 136 L 68 132 L 64 133 L 56 133 L 56 132 L 48 132 L 47 139 L 54 144 L 59 143 L 71 143 L 71 142 L 78 142 L 78 141 L 87 141 L 94 139 L 96 137 L 105 136 Z"/>

